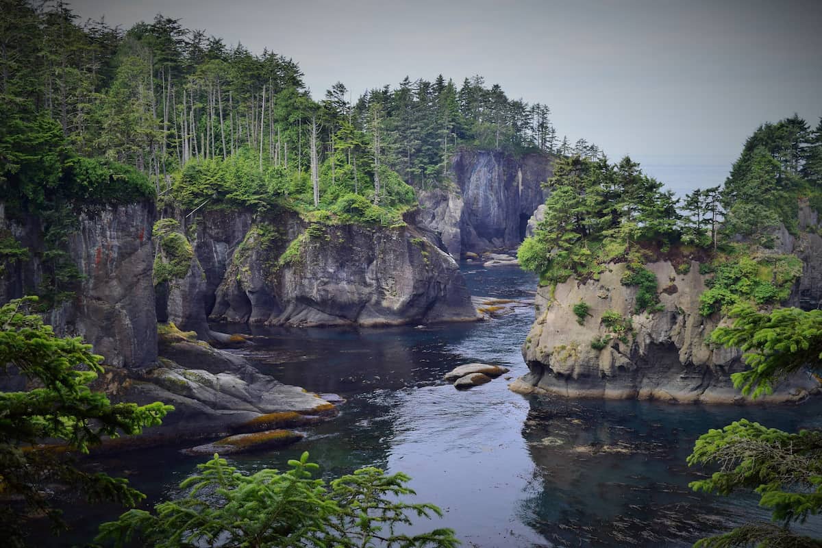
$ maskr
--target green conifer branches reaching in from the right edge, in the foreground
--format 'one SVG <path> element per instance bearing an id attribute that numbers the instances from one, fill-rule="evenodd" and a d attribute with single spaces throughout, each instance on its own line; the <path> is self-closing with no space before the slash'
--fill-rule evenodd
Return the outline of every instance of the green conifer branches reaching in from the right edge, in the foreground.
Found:
<path id="1" fill-rule="evenodd" d="M 730 327 L 713 330 L 711 340 L 741 348 L 746 371 L 732 375 L 742 394 L 770 394 L 787 375 L 822 367 L 822 311 L 780 308 L 770 313 L 748 304 L 735 306 Z M 750 523 L 697 542 L 704 548 L 726 546 L 820 546 L 797 535 L 790 525 L 822 511 L 822 432 L 788 433 L 742 419 L 711 430 L 696 441 L 689 465 L 714 464 L 718 472 L 694 481 L 694 490 L 732 495 L 755 490 L 774 524 Z"/>

